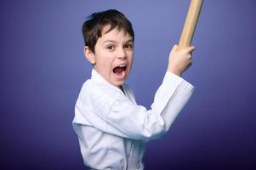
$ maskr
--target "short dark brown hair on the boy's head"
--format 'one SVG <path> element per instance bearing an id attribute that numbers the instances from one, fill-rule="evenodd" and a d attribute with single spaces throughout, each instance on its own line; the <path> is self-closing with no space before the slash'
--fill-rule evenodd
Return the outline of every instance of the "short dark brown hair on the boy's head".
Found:
<path id="1" fill-rule="evenodd" d="M 111 28 L 105 33 L 113 30 L 117 27 L 118 30 L 124 30 L 133 37 L 134 41 L 134 29 L 132 23 L 126 18 L 124 14 L 117 11 L 116 9 L 109 9 L 94 13 L 88 16 L 82 24 L 82 36 L 84 43 L 92 52 L 94 53 L 95 44 L 102 35 L 102 30 L 104 26 L 110 25 Z"/>

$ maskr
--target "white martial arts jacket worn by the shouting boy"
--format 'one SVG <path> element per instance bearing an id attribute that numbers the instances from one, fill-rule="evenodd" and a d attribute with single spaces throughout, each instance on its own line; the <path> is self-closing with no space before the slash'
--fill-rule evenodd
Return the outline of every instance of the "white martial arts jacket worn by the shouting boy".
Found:
<path id="1" fill-rule="evenodd" d="M 145 141 L 168 131 L 194 91 L 189 82 L 167 71 L 147 111 L 136 104 L 126 84 L 122 88 L 124 93 L 94 69 L 82 85 L 73 127 L 88 167 L 144 169 Z"/>

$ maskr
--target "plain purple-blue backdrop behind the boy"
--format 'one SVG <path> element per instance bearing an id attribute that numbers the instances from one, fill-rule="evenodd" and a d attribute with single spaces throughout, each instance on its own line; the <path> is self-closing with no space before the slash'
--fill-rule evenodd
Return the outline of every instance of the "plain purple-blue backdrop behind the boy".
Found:
<path id="1" fill-rule="evenodd" d="M 88 14 L 117 8 L 133 22 L 128 82 L 150 108 L 189 2 L 2 0 L 1 169 L 84 169 L 71 121 L 91 71 L 82 54 Z M 147 144 L 145 169 L 256 169 L 255 8 L 204 2 L 184 74 L 196 93 L 168 134 Z"/>

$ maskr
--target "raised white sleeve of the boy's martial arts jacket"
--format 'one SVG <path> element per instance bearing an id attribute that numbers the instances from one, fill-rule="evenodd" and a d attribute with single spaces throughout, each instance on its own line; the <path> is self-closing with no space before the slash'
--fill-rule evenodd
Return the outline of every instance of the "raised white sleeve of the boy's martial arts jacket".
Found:
<path id="1" fill-rule="evenodd" d="M 92 95 L 92 105 L 94 113 L 102 120 L 100 127 L 105 133 L 149 140 L 168 131 L 193 91 L 194 87 L 189 82 L 167 72 L 150 110 L 135 105 L 122 93 L 104 89 Z"/>

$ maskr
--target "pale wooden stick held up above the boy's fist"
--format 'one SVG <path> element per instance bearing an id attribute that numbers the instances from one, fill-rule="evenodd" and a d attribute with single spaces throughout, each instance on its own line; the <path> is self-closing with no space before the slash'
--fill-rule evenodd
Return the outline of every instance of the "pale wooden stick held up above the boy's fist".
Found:
<path id="1" fill-rule="evenodd" d="M 179 39 L 178 49 L 191 46 L 191 41 L 196 29 L 196 23 L 202 8 L 203 0 L 191 0 L 191 5 L 185 19 L 181 37 Z"/>

